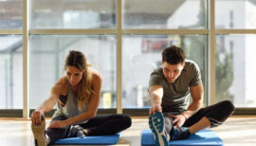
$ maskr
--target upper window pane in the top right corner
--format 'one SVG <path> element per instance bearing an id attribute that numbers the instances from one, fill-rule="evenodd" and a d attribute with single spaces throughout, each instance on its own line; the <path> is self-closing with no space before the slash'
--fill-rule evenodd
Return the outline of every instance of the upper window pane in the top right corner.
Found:
<path id="1" fill-rule="evenodd" d="M 256 28 L 255 0 L 216 0 L 217 28 Z"/>

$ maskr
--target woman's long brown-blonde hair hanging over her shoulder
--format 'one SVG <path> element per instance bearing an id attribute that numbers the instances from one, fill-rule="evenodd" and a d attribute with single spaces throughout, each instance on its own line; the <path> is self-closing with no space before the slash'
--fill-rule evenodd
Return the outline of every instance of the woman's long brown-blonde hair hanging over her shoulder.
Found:
<path id="1" fill-rule="evenodd" d="M 87 100 L 94 94 L 92 90 L 92 73 L 88 69 L 90 64 L 87 64 L 86 58 L 82 52 L 77 50 L 70 50 L 64 64 L 64 69 L 67 66 L 75 66 L 82 71 L 82 80 L 79 82 L 79 93 L 78 93 L 78 108 L 82 111 L 85 107 Z"/>

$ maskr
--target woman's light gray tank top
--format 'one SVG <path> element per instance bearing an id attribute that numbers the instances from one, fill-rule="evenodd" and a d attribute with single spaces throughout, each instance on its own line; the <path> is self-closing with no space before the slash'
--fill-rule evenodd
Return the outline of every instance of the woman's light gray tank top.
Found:
<path id="1" fill-rule="evenodd" d="M 70 119 L 70 118 L 76 117 L 76 116 L 82 114 L 83 112 L 87 111 L 88 100 L 86 102 L 86 106 L 82 109 L 82 111 L 80 111 L 78 108 L 78 100 L 77 100 L 74 92 L 71 89 L 71 85 L 66 78 L 64 78 L 64 79 L 65 79 L 66 86 L 67 86 L 67 99 L 66 99 L 64 106 L 62 106 L 60 103 L 60 100 L 58 100 L 57 110 L 55 111 L 52 118 L 55 118 L 58 116 L 64 116 L 65 118 Z M 84 121 L 84 122 L 86 122 L 86 121 Z"/>

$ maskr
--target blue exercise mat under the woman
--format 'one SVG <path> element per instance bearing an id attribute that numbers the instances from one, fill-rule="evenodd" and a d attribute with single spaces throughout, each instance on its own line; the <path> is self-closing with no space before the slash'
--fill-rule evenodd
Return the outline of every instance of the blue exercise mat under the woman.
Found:
<path id="1" fill-rule="evenodd" d="M 117 144 L 120 133 L 117 135 L 96 137 L 68 137 L 55 141 L 52 145 L 111 145 Z"/>

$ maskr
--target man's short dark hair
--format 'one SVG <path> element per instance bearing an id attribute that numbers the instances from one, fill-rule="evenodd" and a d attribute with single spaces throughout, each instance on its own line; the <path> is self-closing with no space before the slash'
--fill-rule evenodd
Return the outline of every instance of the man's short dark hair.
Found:
<path id="1" fill-rule="evenodd" d="M 169 46 L 162 52 L 162 62 L 167 62 L 168 64 L 183 64 L 185 59 L 185 52 L 177 46 Z"/>

